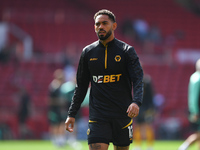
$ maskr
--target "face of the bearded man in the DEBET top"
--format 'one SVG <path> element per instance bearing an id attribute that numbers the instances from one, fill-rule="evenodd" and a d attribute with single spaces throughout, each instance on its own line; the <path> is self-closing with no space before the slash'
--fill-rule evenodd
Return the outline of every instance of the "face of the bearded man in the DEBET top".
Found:
<path id="1" fill-rule="evenodd" d="M 99 15 L 95 19 L 95 32 L 100 40 L 106 40 L 113 32 L 113 22 L 107 15 Z"/>

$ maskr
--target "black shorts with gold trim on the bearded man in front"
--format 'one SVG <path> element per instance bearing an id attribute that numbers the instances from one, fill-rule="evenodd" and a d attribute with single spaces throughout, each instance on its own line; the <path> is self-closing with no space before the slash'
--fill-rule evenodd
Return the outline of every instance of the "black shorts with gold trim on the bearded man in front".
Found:
<path id="1" fill-rule="evenodd" d="M 112 142 L 116 146 L 129 146 L 133 140 L 132 122 L 131 118 L 89 120 L 88 144 Z"/>

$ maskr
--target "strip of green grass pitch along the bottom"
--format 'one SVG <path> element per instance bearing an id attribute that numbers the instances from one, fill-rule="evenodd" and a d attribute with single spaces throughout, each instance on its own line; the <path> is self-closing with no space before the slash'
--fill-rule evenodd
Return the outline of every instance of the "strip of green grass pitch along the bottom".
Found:
<path id="1" fill-rule="evenodd" d="M 183 141 L 156 141 L 154 144 L 154 150 L 177 150 L 178 146 Z M 62 148 L 55 147 L 50 141 L 43 140 L 10 140 L 0 141 L 1 150 L 88 150 L 87 141 L 80 141 L 82 149 L 74 149 L 69 145 Z M 131 144 L 130 150 L 132 150 L 134 143 Z M 110 144 L 109 150 L 113 150 L 112 144 Z M 146 143 L 143 142 L 142 150 L 146 150 Z M 197 145 L 192 145 L 188 150 L 197 150 Z"/>

